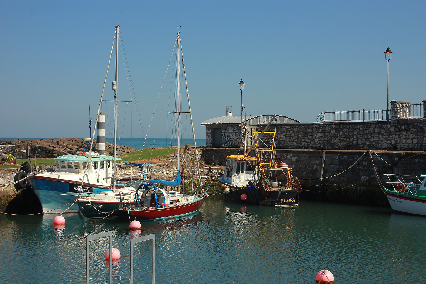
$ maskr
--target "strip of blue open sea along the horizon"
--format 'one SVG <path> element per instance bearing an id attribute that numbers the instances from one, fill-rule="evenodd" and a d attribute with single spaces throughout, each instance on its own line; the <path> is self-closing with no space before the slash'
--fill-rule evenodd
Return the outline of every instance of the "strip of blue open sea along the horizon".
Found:
<path id="1" fill-rule="evenodd" d="M 9 139 L 9 141 L 16 139 L 19 137 L 0 137 L 0 139 Z M 32 138 L 22 138 L 27 140 L 33 140 L 38 139 L 41 137 L 32 137 Z M 42 139 L 47 139 L 52 137 L 44 137 Z M 57 137 L 54 139 L 58 139 Z M 114 138 L 105 138 L 106 142 L 114 143 Z M 205 146 L 206 145 L 206 138 L 196 138 L 195 139 L 197 146 Z M 117 144 L 122 146 L 128 146 L 135 149 L 142 149 L 142 146 L 144 146 L 144 138 L 117 138 Z M 184 146 L 185 144 L 191 144 L 191 146 L 194 146 L 194 139 L 193 138 L 182 138 L 181 139 L 181 146 Z M 145 141 L 144 148 L 151 148 L 151 147 L 171 147 L 171 146 L 177 146 L 178 140 L 177 139 L 171 139 L 171 138 L 147 138 Z"/>

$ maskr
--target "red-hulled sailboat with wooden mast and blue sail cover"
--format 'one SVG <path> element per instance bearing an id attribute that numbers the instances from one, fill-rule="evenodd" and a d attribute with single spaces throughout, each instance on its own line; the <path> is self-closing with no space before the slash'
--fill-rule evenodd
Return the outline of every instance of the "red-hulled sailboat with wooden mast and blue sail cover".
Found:
<path id="1" fill-rule="evenodd" d="M 185 75 L 187 96 L 188 96 L 188 106 L 189 113 L 191 118 L 193 139 L 195 152 L 197 153 L 197 144 L 195 140 L 194 124 L 192 120 L 191 113 L 191 104 L 189 100 L 188 84 L 186 79 L 185 72 L 185 63 L 183 55 L 181 54 L 181 34 L 178 32 L 177 35 L 178 43 L 178 170 L 177 176 L 174 181 L 165 181 L 165 180 L 153 180 L 147 179 L 144 183 L 141 183 L 135 194 L 134 204 L 129 207 L 121 207 L 118 209 L 118 212 L 121 216 L 130 218 L 131 220 L 160 220 L 166 218 L 176 218 L 184 215 L 190 215 L 197 212 L 201 205 L 204 203 L 207 195 L 207 189 L 204 191 L 203 184 L 201 181 L 201 172 L 200 165 L 198 160 L 198 155 L 196 157 L 198 176 L 200 178 L 200 191 L 196 190 L 192 195 L 186 195 L 181 193 L 180 190 L 171 190 L 179 189 L 181 186 L 181 64 Z M 161 188 L 161 186 L 156 186 L 155 184 L 161 184 L 166 186 L 166 188 Z"/>

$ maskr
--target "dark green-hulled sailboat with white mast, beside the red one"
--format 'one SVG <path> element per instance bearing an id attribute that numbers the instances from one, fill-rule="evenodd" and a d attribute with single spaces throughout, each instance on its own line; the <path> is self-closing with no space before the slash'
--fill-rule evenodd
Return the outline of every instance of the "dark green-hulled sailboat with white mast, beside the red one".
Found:
<path id="1" fill-rule="evenodd" d="M 115 26 L 115 81 L 112 82 L 112 90 L 115 91 L 114 95 L 114 156 L 112 158 L 112 175 L 110 176 L 111 184 L 107 188 L 103 188 L 95 192 L 94 189 L 89 187 L 79 186 L 81 189 L 81 195 L 79 196 L 77 203 L 81 212 L 86 218 L 102 218 L 102 217 L 118 217 L 118 209 L 120 204 L 130 205 L 133 202 L 136 189 L 132 186 L 120 186 L 117 184 L 118 178 L 116 178 L 117 172 L 117 161 L 121 158 L 117 158 L 117 102 L 118 102 L 118 50 L 119 50 L 119 33 L 120 25 Z M 108 75 L 108 73 L 107 73 Z M 102 98 L 101 98 L 102 102 Z M 98 119 L 98 118 L 97 118 Z M 110 157 L 111 158 L 111 157 Z M 129 175 L 121 177 L 120 180 L 125 178 L 141 177 L 149 175 L 148 167 L 144 167 L 144 173 Z M 87 192 L 93 192 L 87 194 Z"/>

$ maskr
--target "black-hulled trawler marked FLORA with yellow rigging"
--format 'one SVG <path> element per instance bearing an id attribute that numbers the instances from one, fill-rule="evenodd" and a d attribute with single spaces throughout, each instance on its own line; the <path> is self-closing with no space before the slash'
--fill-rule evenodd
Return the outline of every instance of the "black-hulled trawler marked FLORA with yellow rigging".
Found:
<path id="1" fill-rule="evenodd" d="M 294 180 L 292 169 L 288 165 L 277 165 L 273 161 L 276 132 L 265 130 L 253 132 L 253 146 L 256 146 L 257 157 L 247 155 L 253 146 L 245 151 L 245 155 L 227 156 L 225 175 L 220 179 L 225 199 L 267 206 L 297 206 L 299 193 L 302 191 L 300 183 Z M 259 149 L 258 142 L 262 137 L 262 143 L 266 144 L 265 141 L 268 141 L 271 143 L 270 147 L 265 145 L 266 149 Z"/>

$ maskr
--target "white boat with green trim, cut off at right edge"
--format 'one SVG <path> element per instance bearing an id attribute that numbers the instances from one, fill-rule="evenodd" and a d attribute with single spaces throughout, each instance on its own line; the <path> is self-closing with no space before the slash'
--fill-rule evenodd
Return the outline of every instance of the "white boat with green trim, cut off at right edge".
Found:
<path id="1" fill-rule="evenodd" d="M 394 211 L 426 216 L 426 174 L 421 174 L 423 181 L 415 175 L 385 176 L 389 182 L 383 191 Z"/>

